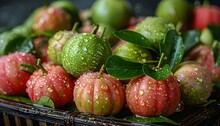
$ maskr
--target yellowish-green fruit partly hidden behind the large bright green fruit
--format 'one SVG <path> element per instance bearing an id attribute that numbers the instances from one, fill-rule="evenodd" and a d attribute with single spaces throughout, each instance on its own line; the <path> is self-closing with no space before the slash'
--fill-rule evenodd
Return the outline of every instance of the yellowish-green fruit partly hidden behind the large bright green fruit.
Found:
<path id="1" fill-rule="evenodd" d="M 59 31 L 48 41 L 48 55 L 53 63 L 62 65 L 61 53 L 66 42 L 74 35 L 73 31 Z"/>

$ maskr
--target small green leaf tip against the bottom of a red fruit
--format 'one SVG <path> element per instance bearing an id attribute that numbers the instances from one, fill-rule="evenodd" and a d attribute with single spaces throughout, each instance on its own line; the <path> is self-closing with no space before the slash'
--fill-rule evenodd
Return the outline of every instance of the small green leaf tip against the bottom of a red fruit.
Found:
<path id="1" fill-rule="evenodd" d="M 38 99 L 38 101 L 35 102 L 35 104 L 40 104 L 51 108 L 55 108 L 53 101 L 47 96 L 42 96 L 40 99 Z"/>

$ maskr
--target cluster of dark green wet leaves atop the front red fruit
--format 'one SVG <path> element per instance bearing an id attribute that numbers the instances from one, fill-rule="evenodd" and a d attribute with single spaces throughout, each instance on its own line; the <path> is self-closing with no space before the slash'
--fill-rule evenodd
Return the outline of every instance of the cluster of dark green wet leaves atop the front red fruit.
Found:
<path id="1" fill-rule="evenodd" d="M 201 32 L 192 30 L 180 35 L 175 30 L 166 33 L 160 42 L 159 50 L 153 48 L 149 39 L 145 36 L 130 30 L 121 30 L 114 32 L 114 35 L 121 40 L 137 44 L 141 47 L 159 54 L 158 65 L 141 64 L 130 61 L 126 58 L 112 55 L 106 61 L 106 71 L 108 74 L 121 79 L 131 79 L 146 74 L 155 80 L 163 80 L 171 75 L 182 61 L 184 53 L 199 42 Z M 192 44 L 193 43 L 193 44 Z"/>

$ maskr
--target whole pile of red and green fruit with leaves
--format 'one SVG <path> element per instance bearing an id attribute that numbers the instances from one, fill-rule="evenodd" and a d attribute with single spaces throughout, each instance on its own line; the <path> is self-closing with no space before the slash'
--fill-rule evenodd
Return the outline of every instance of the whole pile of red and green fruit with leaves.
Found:
<path id="1" fill-rule="evenodd" d="M 219 36 L 215 5 L 162 0 L 155 16 L 132 17 L 126 0 L 97 0 L 86 12 L 54 1 L 0 31 L 0 94 L 101 116 L 169 117 L 209 103 L 220 87 Z"/>

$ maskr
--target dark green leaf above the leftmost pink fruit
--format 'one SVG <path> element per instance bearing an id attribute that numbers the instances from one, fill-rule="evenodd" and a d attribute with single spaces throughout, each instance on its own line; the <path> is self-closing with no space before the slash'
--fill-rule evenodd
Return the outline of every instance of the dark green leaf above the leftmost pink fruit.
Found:
<path id="1" fill-rule="evenodd" d="M 6 48 L 4 54 L 9 54 L 13 52 L 25 52 L 28 53 L 34 48 L 31 38 L 26 38 L 24 36 L 19 36 L 16 39 L 10 41 Z"/>

